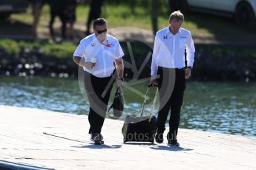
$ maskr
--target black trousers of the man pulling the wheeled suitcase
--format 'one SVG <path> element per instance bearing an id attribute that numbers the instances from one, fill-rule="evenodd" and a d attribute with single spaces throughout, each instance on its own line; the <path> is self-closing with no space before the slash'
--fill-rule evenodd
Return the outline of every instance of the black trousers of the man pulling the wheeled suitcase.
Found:
<path id="1" fill-rule="evenodd" d="M 180 109 L 183 105 L 183 95 L 186 89 L 184 69 L 158 68 L 158 88 L 160 89 L 160 110 L 157 117 L 157 132 L 165 131 L 165 122 L 169 118 L 168 140 L 177 140 L 180 123 Z"/>

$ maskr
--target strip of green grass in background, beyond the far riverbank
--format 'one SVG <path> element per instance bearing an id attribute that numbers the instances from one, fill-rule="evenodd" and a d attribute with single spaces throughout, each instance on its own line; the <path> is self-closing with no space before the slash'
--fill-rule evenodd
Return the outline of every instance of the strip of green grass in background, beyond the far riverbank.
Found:
<path id="1" fill-rule="evenodd" d="M 158 18 L 159 30 L 168 26 L 168 9 L 162 7 Z M 50 19 L 49 6 L 45 5 L 42 10 L 42 18 L 39 29 L 47 29 Z M 85 29 L 88 17 L 88 5 L 79 5 L 76 10 L 76 24 Z M 151 31 L 151 9 L 135 7 L 134 12 L 128 5 L 107 4 L 102 7 L 102 17 L 108 21 L 109 29 L 114 27 L 140 27 Z M 12 19 L 31 24 L 33 21 L 31 9 L 27 13 L 13 14 Z M 58 20 L 58 19 L 57 19 Z M 59 20 L 58 20 L 59 21 Z M 189 13 L 185 16 L 183 27 L 190 30 L 192 35 L 234 35 L 255 34 L 255 30 L 238 27 L 232 18 L 210 16 L 206 14 Z"/>

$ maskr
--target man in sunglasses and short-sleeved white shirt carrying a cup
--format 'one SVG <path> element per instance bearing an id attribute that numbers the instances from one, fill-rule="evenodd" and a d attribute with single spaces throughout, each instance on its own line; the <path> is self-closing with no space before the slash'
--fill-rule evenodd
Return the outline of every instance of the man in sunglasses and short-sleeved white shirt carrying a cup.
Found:
<path id="1" fill-rule="evenodd" d="M 117 88 L 122 86 L 124 53 L 119 41 L 107 34 L 107 23 L 104 18 L 97 18 L 93 22 L 93 30 L 93 34 L 80 41 L 73 53 L 73 61 L 85 71 L 85 90 L 90 103 L 88 119 L 91 140 L 94 143 L 101 143 L 101 130 L 116 74 Z"/>

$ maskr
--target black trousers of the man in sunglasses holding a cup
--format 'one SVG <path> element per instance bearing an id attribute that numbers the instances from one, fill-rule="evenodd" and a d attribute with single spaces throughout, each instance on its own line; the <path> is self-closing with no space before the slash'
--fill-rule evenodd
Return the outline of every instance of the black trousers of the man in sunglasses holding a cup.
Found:
<path id="1" fill-rule="evenodd" d="M 114 74 L 110 77 L 98 78 L 85 72 L 85 90 L 90 103 L 89 134 L 100 133 L 102 130 L 114 80 Z"/>

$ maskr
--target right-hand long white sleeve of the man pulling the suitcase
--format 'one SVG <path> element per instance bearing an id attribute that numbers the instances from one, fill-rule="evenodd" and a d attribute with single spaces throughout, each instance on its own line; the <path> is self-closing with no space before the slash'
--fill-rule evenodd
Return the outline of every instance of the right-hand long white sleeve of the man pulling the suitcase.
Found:
<path id="1" fill-rule="evenodd" d="M 193 67 L 194 64 L 194 41 L 192 39 L 191 34 L 189 34 L 188 41 L 186 41 L 186 59 L 187 59 L 187 66 Z"/>

